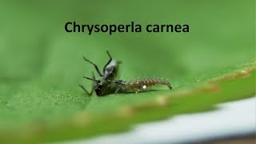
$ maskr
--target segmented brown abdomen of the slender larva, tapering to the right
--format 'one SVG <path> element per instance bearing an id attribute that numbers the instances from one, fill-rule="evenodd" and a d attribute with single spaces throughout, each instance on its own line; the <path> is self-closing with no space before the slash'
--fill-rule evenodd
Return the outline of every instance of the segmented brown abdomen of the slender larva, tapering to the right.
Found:
<path id="1" fill-rule="evenodd" d="M 131 82 L 126 82 L 126 87 L 134 90 L 145 90 L 146 87 L 156 86 L 156 85 L 166 85 L 170 89 L 170 82 L 163 80 L 162 78 L 142 78 L 138 80 L 134 80 Z"/>

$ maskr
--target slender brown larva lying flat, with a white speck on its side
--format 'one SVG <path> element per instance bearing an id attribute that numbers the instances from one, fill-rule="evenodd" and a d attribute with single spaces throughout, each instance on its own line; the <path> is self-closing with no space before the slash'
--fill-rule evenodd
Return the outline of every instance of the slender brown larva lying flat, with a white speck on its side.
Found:
<path id="1" fill-rule="evenodd" d="M 122 81 L 122 80 L 109 80 L 110 82 L 114 83 L 116 90 L 115 94 L 118 93 L 119 90 L 122 91 L 133 91 L 138 93 L 138 91 L 146 90 L 147 87 L 156 86 L 156 85 L 166 85 L 172 89 L 170 86 L 170 82 L 162 78 L 142 78 L 134 81 Z"/>

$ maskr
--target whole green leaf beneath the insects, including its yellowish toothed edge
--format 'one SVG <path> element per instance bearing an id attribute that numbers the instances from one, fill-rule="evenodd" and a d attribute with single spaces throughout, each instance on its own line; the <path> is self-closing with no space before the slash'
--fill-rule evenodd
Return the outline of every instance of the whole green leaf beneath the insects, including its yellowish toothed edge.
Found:
<path id="1" fill-rule="evenodd" d="M 90 138 L 255 95 L 254 1 L 3 1 L 0 16 L 0 142 Z M 73 21 L 190 32 L 67 33 Z M 118 78 L 169 78 L 173 90 L 88 97 L 78 84 L 89 90 L 95 70 L 82 56 L 102 68 L 106 50 Z"/>

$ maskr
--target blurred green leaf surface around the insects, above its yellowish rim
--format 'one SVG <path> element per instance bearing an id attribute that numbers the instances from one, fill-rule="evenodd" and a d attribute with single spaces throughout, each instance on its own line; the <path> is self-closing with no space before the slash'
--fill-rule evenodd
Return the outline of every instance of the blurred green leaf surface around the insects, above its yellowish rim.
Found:
<path id="1" fill-rule="evenodd" d="M 1 0 L 0 126 L 47 122 L 118 103 L 118 95 L 91 100 L 79 89 L 79 83 L 89 89 L 91 82 L 82 77 L 94 71 L 83 55 L 102 68 L 109 50 L 122 61 L 119 78 L 170 78 L 174 90 L 190 78 L 249 62 L 255 58 L 254 13 L 254 0 Z M 190 32 L 66 33 L 66 22 L 74 21 L 188 24 Z M 119 104 L 136 101 L 129 98 L 119 98 Z"/>

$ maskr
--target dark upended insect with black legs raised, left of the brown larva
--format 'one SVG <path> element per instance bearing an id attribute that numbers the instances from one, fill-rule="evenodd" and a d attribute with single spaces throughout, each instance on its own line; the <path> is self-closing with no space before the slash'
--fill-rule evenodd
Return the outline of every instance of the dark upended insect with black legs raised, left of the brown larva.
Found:
<path id="1" fill-rule="evenodd" d="M 82 85 L 79 85 L 82 90 L 86 92 L 86 94 L 92 95 L 94 93 L 94 90 L 98 96 L 102 96 L 104 94 L 107 94 L 109 91 L 109 86 L 112 80 L 116 77 L 118 74 L 118 64 L 121 62 L 114 61 L 110 55 L 110 53 L 106 50 L 106 54 L 110 57 L 110 60 L 106 62 L 106 65 L 103 67 L 103 73 L 100 72 L 98 69 L 98 66 L 94 64 L 94 62 L 91 62 L 89 59 L 83 57 L 83 59 L 86 62 L 89 62 L 90 64 L 94 65 L 95 69 L 97 70 L 99 76 L 101 77 L 100 80 L 95 80 L 94 73 L 93 73 L 93 78 L 87 78 L 90 79 L 94 82 L 92 89 L 90 92 L 86 90 L 86 88 Z M 84 77 L 86 78 L 86 77 Z"/>

